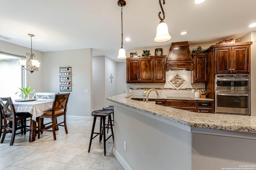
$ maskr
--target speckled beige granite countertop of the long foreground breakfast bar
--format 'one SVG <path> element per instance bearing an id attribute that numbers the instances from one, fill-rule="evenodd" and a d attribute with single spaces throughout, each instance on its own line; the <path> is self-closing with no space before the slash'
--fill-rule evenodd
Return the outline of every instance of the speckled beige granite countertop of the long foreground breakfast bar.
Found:
<path id="1" fill-rule="evenodd" d="M 256 116 L 195 113 L 132 100 L 131 96 L 119 94 L 107 100 L 190 127 L 256 133 Z"/>

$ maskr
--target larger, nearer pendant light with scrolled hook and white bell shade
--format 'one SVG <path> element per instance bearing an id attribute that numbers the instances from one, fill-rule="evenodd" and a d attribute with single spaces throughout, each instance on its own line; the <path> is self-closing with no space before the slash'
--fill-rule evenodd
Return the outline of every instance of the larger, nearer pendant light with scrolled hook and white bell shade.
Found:
<path id="1" fill-rule="evenodd" d="M 163 12 L 163 16 L 165 18 L 165 15 L 164 15 L 164 9 L 162 7 L 162 4 L 161 4 L 161 0 L 159 0 L 159 4 L 160 4 L 160 7 L 161 7 L 161 10 Z M 163 0 L 163 5 L 165 4 L 165 0 Z M 156 42 L 164 42 L 164 41 L 168 41 L 169 39 L 171 39 L 172 37 L 170 36 L 169 32 L 168 32 L 168 26 L 167 24 L 164 22 L 164 18 L 161 18 L 160 16 L 161 12 L 158 13 L 158 17 L 160 19 L 160 22 L 157 26 L 157 29 L 156 29 L 156 37 L 154 39 L 154 41 Z"/>

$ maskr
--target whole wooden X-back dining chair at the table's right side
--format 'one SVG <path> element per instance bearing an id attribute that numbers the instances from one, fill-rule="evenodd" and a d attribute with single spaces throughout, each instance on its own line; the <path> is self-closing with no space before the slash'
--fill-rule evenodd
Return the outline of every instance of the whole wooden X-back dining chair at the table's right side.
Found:
<path id="1" fill-rule="evenodd" d="M 52 104 L 52 110 L 45 112 L 43 115 L 41 115 L 38 120 L 38 139 L 40 139 L 40 133 L 42 131 L 48 131 L 52 132 L 54 141 L 56 140 L 56 126 L 64 126 L 66 134 L 68 134 L 68 128 L 66 124 L 66 112 L 67 112 L 67 104 L 68 104 L 68 98 L 70 93 L 64 93 L 64 94 L 55 94 L 54 101 Z M 64 117 L 64 120 L 60 123 L 57 123 L 57 117 L 62 116 Z M 42 128 L 42 118 L 51 118 L 52 123 L 44 128 Z M 64 123 L 64 125 L 61 125 Z M 49 130 L 52 129 L 52 130 Z"/>

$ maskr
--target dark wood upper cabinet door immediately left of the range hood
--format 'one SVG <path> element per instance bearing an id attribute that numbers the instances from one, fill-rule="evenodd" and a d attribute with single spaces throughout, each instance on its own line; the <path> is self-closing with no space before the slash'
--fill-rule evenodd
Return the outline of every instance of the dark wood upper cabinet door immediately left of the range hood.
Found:
<path id="1" fill-rule="evenodd" d="M 154 82 L 165 83 L 165 57 L 154 59 Z"/>

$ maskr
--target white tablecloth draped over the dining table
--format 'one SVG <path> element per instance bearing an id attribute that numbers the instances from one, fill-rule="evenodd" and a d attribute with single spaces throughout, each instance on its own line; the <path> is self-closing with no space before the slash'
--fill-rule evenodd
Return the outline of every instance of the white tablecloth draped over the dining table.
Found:
<path id="1" fill-rule="evenodd" d="M 32 120 L 36 121 L 44 112 L 52 109 L 53 99 L 37 99 L 28 102 L 12 101 L 16 112 L 29 112 L 32 114 Z"/>

